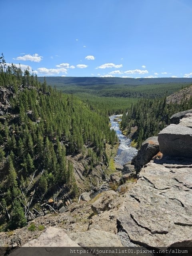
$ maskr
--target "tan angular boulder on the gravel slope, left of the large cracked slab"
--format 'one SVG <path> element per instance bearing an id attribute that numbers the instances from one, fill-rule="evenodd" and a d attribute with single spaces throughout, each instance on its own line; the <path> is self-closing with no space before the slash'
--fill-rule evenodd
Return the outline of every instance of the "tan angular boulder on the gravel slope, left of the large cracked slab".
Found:
<path id="1" fill-rule="evenodd" d="M 110 203 L 118 194 L 114 190 L 104 191 L 96 196 L 96 201 L 91 205 L 91 209 L 96 214 L 110 210 Z"/>

